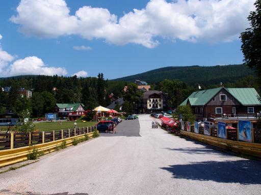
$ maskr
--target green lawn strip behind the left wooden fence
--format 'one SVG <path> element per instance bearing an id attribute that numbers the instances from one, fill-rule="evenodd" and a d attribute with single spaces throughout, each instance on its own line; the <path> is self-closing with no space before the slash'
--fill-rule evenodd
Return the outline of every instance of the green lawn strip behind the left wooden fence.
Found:
<path id="1" fill-rule="evenodd" d="M 94 126 L 96 122 L 82 122 L 76 121 L 78 127 L 87 127 L 87 126 Z M 60 129 L 68 129 L 74 128 L 74 122 L 66 121 L 66 122 L 39 122 L 36 123 L 36 129 L 39 131 L 55 131 Z"/>

